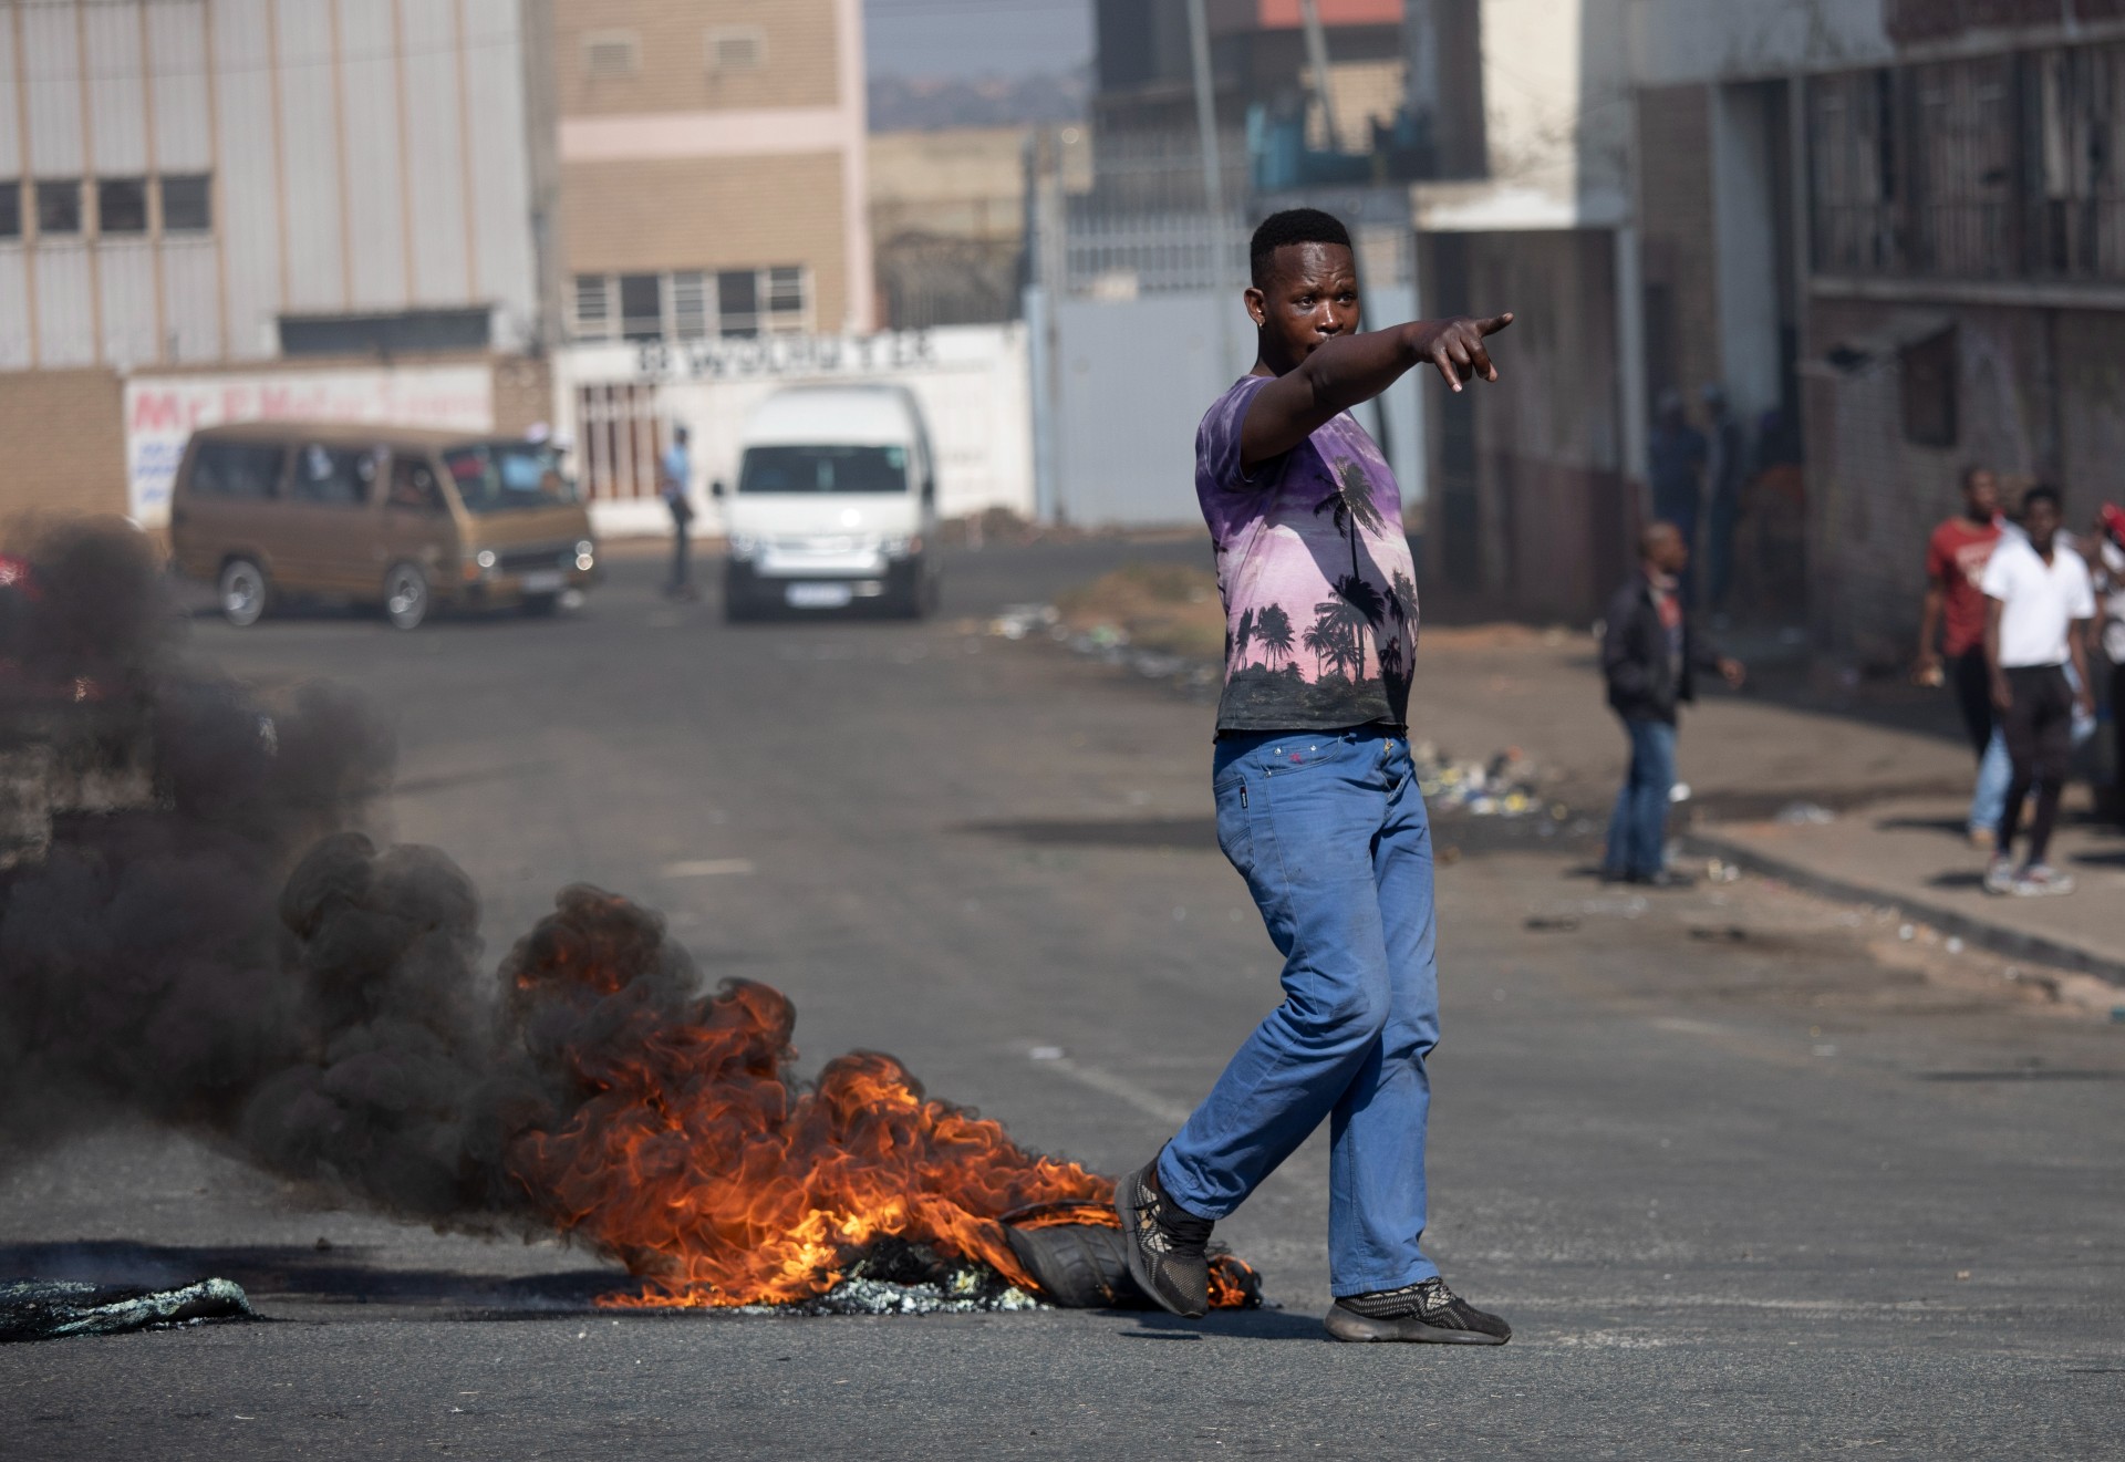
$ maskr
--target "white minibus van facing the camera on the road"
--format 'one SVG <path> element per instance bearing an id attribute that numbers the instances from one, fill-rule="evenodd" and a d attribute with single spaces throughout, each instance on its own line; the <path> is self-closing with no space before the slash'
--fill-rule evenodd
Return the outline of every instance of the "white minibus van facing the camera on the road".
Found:
<path id="1" fill-rule="evenodd" d="M 905 387 L 793 387 L 740 440 L 725 618 L 873 604 L 918 618 L 937 601 L 937 459 Z"/>

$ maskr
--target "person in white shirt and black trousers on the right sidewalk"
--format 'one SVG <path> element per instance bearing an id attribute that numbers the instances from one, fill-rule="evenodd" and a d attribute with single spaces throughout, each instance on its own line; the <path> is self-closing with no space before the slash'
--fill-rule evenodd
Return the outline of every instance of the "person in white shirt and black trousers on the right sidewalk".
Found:
<path id="1" fill-rule="evenodd" d="M 2095 589 L 2089 565 L 2059 538 L 2059 489 L 2038 484 L 2021 499 L 2023 536 L 2006 536 L 1985 563 L 1985 663 L 1991 669 L 2000 731 L 2014 763 L 2006 812 L 1987 892 L 2048 895 L 2072 892 L 2074 880 L 2059 873 L 2044 854 L 2059 816 L 2059 795 L 2074 752 L 2074 712 L 2095 712 L 2089 697 L 2085 640 L 2095 618 Z M 2066 667 L 2074 667 L 2068 682 Z M 2029 850 L 2014 869 L 2014 833 L 2021 805 L 2036 790 L 2029 818 Z"/>

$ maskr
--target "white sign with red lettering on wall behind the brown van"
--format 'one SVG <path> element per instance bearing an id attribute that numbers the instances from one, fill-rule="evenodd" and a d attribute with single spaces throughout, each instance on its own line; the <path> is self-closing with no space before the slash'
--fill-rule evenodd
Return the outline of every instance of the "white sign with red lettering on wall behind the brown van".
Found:
<path id="1" fill-rule="evenodd" d="M 493 431 L 487 366 L 283 370 L 244 376 L 134 376 L 125 382 L 125 478 L 142 527 L 170 521 L 170 480 L 200 427 L 240 421 L 374 421 Z"/>

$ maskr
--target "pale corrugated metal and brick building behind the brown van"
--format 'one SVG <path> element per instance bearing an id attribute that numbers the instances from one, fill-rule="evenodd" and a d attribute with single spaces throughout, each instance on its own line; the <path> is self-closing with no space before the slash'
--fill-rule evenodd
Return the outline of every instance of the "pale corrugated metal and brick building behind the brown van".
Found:
<path id="1" fill-rule="evenodd" d="M 493 425 L 546 414 L 540 6 L 0 4 L 0 521 L 155 523 L 147 378 L 363 410 L 446 366 Z"/>

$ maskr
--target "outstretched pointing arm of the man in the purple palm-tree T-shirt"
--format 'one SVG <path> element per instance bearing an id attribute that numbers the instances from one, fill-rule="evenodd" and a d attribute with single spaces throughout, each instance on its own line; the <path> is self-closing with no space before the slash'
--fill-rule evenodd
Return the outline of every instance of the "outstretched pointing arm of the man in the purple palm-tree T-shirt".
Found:
<path id="1" fill-rule="evenodd" d="M 1247 404 L 1247 421 L 1239 429 L 1241 470 L 1281 457 L 1339 412 L 1371 402 L 1415 366 L 1436 366 L 1456 391 L 1462 380 L 1496 380 L 1498 368 L 1490 363 L 1483 340 L 1511 323 L 1509 312 L 1483 321 L 1409 321 L 1324 342 Z"/>

